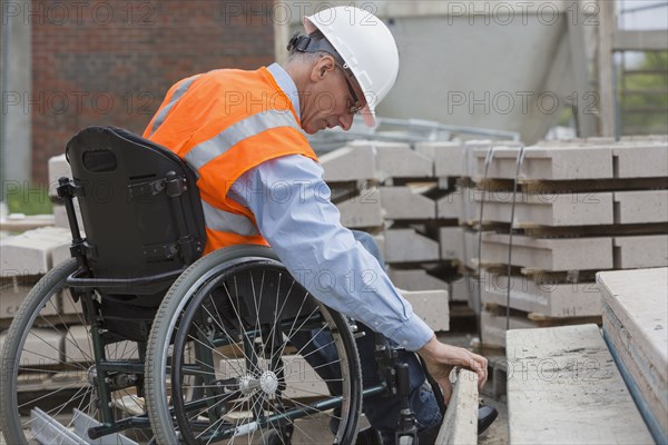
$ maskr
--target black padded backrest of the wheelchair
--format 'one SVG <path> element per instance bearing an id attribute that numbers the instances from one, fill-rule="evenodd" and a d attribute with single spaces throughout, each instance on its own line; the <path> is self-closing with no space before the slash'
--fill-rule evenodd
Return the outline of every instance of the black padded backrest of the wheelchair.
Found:
<path id="1" fill-rule="evenodd" d="M 155 294 L 173 279 L 140 278 L 175 276 L 202 255 L 197 177 L 174 152 L 122 129 L 90 127 L 66 154 L 92 278 L 132 284 L 114 293 Z"/>

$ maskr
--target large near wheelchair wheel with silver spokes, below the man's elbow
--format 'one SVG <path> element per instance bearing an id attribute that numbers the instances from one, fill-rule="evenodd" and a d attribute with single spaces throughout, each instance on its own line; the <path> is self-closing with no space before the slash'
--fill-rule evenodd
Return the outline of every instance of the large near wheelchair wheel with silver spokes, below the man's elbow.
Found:
<path id="1" fill-rule="evenodd" d="M 336 434 L 324 439 L 354 443 L 362 382 L 348 323 L 268 248 L 232 247 L 191 265 L 163 300 L 147 355 L 163 445 L 322 443 L 333 418 Z"/>

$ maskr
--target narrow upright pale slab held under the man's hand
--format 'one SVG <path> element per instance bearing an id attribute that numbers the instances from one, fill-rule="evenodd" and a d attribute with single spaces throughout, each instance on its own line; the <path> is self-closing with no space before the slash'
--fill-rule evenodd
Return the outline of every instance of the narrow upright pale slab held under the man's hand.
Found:
<path id="1" fill-rule="evenodd" d="M 436 445 L 478 443 L 478 374 L 460 369 Z"/>

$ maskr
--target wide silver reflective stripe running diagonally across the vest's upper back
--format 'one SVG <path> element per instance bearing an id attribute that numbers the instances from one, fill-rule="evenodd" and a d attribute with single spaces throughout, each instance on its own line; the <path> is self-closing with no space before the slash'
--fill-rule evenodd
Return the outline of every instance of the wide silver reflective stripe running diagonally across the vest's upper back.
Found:
<path id="1" fill-rule="evenodd" d="M 220 131 L 209 140 L 193 147 L 185 156 L 186 161 L 199 170 L 208 161 L 223 155 L 242 140 L 262 131 L 278 127 L 293 127 L 299 129 L 292 112 L 287 110 L 267 110 L 248 116 L 235 125 Z"/>

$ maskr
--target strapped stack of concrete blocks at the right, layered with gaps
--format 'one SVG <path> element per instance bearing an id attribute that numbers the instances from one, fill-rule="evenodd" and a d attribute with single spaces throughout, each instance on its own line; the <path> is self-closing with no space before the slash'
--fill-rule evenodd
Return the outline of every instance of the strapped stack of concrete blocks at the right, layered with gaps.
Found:
<path id="1" fill-rule="evenodd" d="M 508 313 L 517 327 L 600 323 L 597 271 L 668 266 L 666 139 L 490 146 L 472 156 L 475 212 L 482 206 L 489 229 L 473 261 L 484 343 L 503 346 Z"/>

